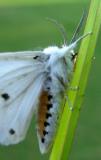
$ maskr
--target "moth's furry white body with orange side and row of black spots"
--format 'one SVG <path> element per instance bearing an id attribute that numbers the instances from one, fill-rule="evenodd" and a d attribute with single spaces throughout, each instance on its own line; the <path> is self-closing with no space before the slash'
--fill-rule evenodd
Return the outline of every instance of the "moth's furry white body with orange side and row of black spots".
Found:
<path id="1" fill-rule="evenodd" d="M 64 50 L 64 48 L 61 49 Z M 49 55 L 49 59 L 45 66 L 48 74 L 39 98 L 38 108 L 37 135 L 41 153 L 47 152 L 54 140 L 59 125 L 61 100 L 64 97 L 64 91 L 70 81 L 70 74 L 74 66 L 72 52 L 67 52 L 70 55 L 64 56 L 61 49 L 49 47 L 44 50 L 44 53 Z"/>

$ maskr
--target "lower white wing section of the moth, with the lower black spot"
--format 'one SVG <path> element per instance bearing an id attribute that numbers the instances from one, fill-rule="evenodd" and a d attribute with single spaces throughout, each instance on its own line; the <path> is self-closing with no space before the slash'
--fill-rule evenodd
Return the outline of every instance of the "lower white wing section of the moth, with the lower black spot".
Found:
<path id="1" fill-rule="evenodd" d="M 16 144 L 25 138 L 43 83 L 44 76 L 40 75 L 25 93 L 0 109 L 1 144 Z"/>

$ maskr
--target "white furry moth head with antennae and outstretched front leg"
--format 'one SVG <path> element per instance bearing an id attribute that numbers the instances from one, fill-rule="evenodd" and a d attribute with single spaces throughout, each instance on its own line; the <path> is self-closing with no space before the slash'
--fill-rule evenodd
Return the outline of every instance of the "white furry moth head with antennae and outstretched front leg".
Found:
<path id="1" fill-rule="evenodd" d="M 60 30 L 60 33 L 63 37 L 64 43 L 63 46 L 61 48 L 57 47 L 57 46 L 52 46 L 52 47 L 48 47 L 44 49 L 44 53 L 49 55 L 49 61 L 48 61 L 48 66 L 53 65 L 56 61 L 58 61 L 59 59 L 63 58 L 63 57 L 69 57 L 69 59 L 72 59 L 73 56 L 75 56 L 75 51 L 74 49 L 76 48 L 76 46 L 78 45 L 78 43 L 85 37 L 87 37 L 88 35 L 91 34 L 91 32 L 88 32 L 86 34 L 84 34 L 83 36 L 80 36 L 78 38 L 78 35 L 80 33 L 80 30 L 82 28 L 83 22 L 85 20 L 85 13 L 83 13 L 79 24 L 76 27 L 76 30 L 74 31 L 74 34 L 72 36 L 72 39 L 70 41 L 70 43 L 67 43 L 67 37 L 66 37 L 66 32 L 65 29 L 63 27 L 62 24 L 57 23 L 56 20 L 54 19 L 49 19 L 49 21 L 51 21 L 52 23 L 54 23 L 58 29 Z"/>

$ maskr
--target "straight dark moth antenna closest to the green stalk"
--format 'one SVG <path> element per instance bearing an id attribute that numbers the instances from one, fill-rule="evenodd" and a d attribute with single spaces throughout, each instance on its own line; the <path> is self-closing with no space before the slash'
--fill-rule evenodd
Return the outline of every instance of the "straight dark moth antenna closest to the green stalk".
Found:
<path id="1" fill-rule="evenodd" d="M 83 12 L 82 17 L 81 17 L 81 19 L 80 19 L 80 22 L 79 22 L 79 24 L 77 25 L 76 30 L 74 31 L 74 34 L 73 34 L 73 37 L 72 37 L 72 39 L 71 39 L 70 44 L 73 43 L 73 42 L 76 40 L 76 38 L 77 38 L 77 36 L 78 36 L 81 28 L 82 28 L 82 25 L 83 25 L 83 22 L 84 22 L 85 18 L 86 18 L 86 13 Z"/>

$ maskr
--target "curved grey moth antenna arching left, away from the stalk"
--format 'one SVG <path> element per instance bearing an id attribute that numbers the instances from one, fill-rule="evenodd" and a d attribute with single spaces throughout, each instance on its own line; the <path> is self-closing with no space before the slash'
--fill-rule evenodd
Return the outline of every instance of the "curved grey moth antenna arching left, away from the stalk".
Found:
<path id="1" fill-rule="evenodd" d="M 46 19 L 57 26 L 57 28 L 59 29 L 59 31 L 63 37 L 64 45 L 67 45 L 67 37 L 66 37 L 67 33 L 66 33 L 64 26 L 62 24 L 58 23 L 55 19 L 52 19 L 52 18 L 46 18 Z"/>

